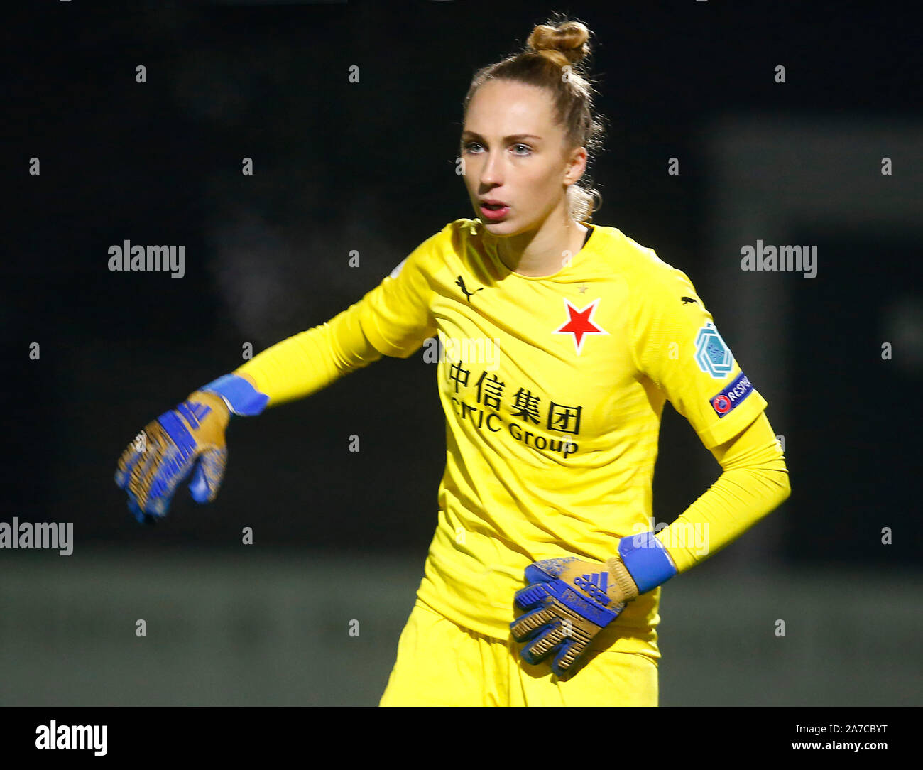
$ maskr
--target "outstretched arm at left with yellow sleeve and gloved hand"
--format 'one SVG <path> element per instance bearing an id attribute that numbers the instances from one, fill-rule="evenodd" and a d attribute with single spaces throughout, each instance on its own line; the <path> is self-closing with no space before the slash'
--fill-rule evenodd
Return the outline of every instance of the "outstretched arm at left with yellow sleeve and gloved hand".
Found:
<path id="1" fill-rule="evenodd" d="M 231 415 L 258 415 L 269 405 L 319 391 L 382 355 L 407 357 L 418 350 L 435 332 L 426 259 L 438 254 L 432 248 L 437 238 L 330 321 L 272 345 L 144 427 L 115 472 L 115 484 L 126 490 L 128 510 L 138 521 L 165 516 L 176 487 L 190 472 L 193 499 L 215 498 Z"/>

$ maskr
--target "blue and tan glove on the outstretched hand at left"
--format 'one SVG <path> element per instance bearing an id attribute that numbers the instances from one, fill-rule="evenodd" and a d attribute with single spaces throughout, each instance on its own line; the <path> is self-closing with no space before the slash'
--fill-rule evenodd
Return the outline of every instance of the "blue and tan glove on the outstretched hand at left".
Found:
<path id="1" fill-rule="evenodd" d="M 224 431 L 231 415 L 258 415 L 268 401 L 247 379 L 228 374 L 150 422 L 128 444 L 115 471 L 115 484 L 128 493 L 128 511 L 140 523 L 162 518 L 190 471 L 192 498 L 215 499 L 227 462 Z"/>

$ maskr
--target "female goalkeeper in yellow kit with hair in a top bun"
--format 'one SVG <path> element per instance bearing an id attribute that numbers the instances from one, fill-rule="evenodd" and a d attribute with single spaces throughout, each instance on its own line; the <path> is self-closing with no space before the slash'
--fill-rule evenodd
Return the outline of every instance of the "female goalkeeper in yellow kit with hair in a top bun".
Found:
<path id="1" fill-rule="evenodd" d="M 353 306 L 161 415 L 116 483 L 140 520 L 192 472 L 214 499 L 230 415 L 302 398 L 438 338 L 438 524 L 381 704 L 656 705 L 660 586 L 789 494 L 766 401 L 685 273 L 580 186 L 602 126 L 589 31 L 536 26 L 463 102 L 475 219 L 429 237 Z M 654 533 L 666 400 L 723 473 Z"/>

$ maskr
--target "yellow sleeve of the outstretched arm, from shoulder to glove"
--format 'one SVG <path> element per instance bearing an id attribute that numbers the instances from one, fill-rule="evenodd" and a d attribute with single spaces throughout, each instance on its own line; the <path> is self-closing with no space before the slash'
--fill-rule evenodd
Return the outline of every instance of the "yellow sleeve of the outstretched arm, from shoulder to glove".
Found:
<path id="1" fill-rule="evenodd" d="M 342 313 L 255 355 L 234 374 L 270 397 L 267 406 L 326 388 L 382 355 L 406 358 L 436 334 L 430 271 L 451 225 L 432 235 L 390 275 Z"/>

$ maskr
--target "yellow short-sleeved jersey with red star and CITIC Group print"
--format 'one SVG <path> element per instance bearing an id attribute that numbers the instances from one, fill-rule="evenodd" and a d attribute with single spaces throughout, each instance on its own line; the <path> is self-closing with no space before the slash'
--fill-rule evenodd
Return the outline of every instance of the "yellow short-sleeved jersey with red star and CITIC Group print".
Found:
<path id="1" fill-rule="evenodd" d="M 666 400 L 709 448 L 766 407 L 686 274 L 615 227 L 584 224 L 581 250 L 536 278 L 503 264 L 479 220 L 456 220 L 324 325 L 337 371 L 369 363 L 350 363 L 356 340 L 438 362 L 446 467 L 418 596 L 498 639 L 521 613 L 513 596 L 531 562 L 605 561 L 618 538 L 652 529 Z M 271 397 L 257 364 L 238 371 Z M 660 592 L 630 602 L 591 649 L 660 657 Z"/>

